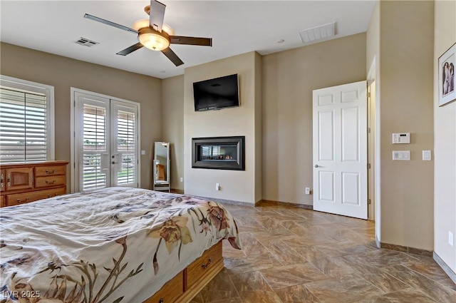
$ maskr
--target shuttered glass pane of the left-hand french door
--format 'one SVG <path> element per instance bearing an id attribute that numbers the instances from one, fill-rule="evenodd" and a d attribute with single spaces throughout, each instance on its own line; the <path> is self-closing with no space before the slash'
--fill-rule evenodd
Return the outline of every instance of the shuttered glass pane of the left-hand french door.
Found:
<path id="1" fill-rule="evenodd" d="M 83 105 L 83 191 L 106 187 L 106 108 Z"/>

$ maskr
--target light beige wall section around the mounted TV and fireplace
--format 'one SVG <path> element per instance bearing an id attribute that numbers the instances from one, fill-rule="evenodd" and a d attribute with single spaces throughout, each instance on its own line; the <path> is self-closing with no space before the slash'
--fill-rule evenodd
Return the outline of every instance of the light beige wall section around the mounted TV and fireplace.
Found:
<path id="1" fill-rule="evenodd" d="M 214 197 L 240 202 L 257 202 L 256 186 L 261 187 L 257 175 L 255 154 L 256 104 L 259 101 L 255 89 L 257 75 L 257 53 L 244 53 L 239 56 L 185 68 L 184 83 L 184 163 L 185 193 Z M 240 106 L 224 108 L 220 111 L 195 112 L 192 83 L 227 76 L 239 75 Z M 192 168 L 192 138 L 245 135 L 245 170 L 207 170 Z M 215 190 L 220 183 L 221 190 Z M 259 184 L 256 184 L 259 183 Z"/>

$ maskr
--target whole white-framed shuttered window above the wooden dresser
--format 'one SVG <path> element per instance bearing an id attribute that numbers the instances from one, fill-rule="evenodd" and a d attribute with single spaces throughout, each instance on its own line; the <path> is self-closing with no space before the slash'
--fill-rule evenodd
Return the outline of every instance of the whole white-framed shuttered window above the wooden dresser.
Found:
<path id="1" fill-rule="evenodd" d="M 53 91 L 0 76 L 0 163 L 54 160 Z"/>

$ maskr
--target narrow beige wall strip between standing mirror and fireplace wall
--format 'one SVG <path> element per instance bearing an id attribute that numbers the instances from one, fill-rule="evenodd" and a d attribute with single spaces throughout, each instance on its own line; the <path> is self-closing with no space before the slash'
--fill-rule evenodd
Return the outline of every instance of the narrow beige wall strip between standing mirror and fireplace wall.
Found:
<path id="1" fill-rule="evenodd" d="M 171 188 L 184 190 L 184 76 L 162 80 L 162 140 L 170 142 Z"/>

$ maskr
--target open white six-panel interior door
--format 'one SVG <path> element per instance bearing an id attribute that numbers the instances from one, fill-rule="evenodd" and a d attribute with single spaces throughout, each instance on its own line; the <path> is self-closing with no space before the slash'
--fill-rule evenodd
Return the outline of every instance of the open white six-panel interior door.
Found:
<path id="1" fill-rule="evenodd" d="M 367 83 L 314 91 L 314 210 L 368 217 Z"/>

